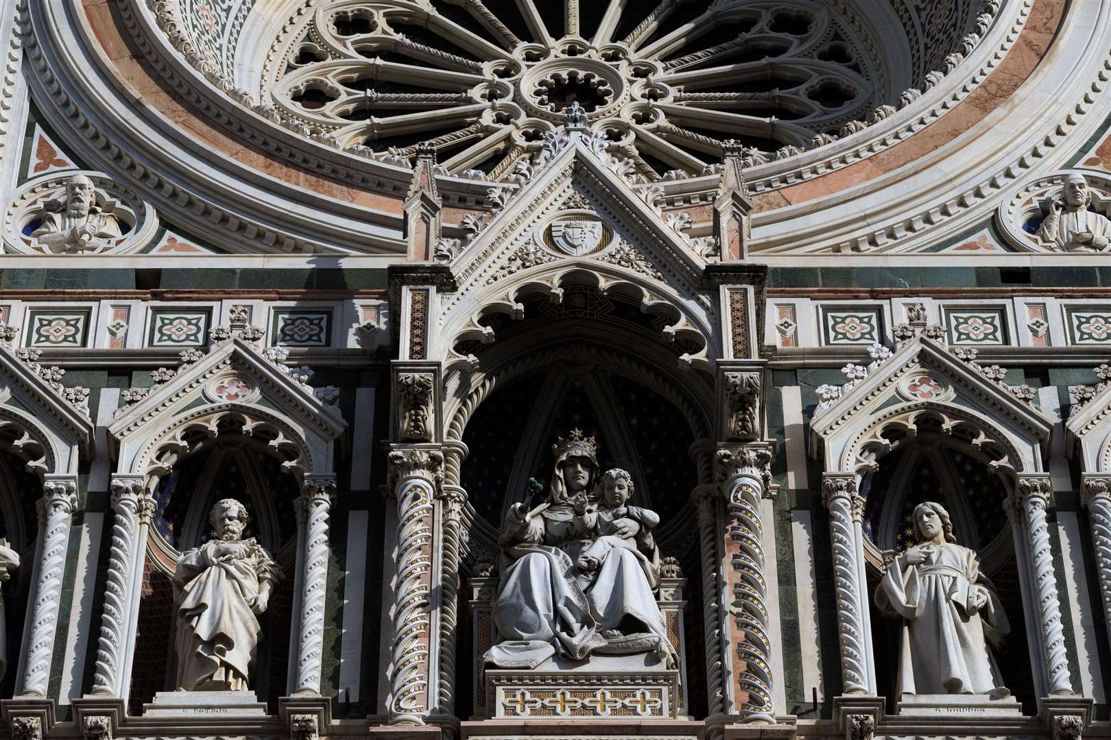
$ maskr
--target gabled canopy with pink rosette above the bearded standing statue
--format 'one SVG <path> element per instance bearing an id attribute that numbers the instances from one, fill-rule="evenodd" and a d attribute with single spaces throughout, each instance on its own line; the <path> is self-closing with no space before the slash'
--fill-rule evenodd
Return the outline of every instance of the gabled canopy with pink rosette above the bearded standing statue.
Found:
<path id="1" fill-rule="evenodd" d="M 228 417 L 242 425 L 244 435 L 264 430 L 269 447 L 296 455 L 287 465 L 298 475 L 332 473 L 333 443 L 347 426 L 309 386 L 236 337 L 183 366 L 112 422 L 108 432 L 119 445 L 117 472 L 157 473 L 160 452 L 188 453 L 187 433 L 218 436 Z"/>

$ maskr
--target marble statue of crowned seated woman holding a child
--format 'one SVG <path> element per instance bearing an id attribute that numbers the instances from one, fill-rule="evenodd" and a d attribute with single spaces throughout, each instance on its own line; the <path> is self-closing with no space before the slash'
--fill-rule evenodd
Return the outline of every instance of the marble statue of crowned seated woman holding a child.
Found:
<path id="1" fill-rule="evenodd" d="M 649 530 L 659 517 L 625 506 L 632 481 L 623 470 L 604 476 L 612 506 L 600 505 L 593 437 L 572 430 L 553 452 L 548 500 L 531 510 L 528 501 L 514 504 L 507 515 L 493 608 L 503 641 L 484 661 L 536 668 L 556 655 L 585 660 L 651 651 L 673 667 L 653 594 L 660 554 Z"/>

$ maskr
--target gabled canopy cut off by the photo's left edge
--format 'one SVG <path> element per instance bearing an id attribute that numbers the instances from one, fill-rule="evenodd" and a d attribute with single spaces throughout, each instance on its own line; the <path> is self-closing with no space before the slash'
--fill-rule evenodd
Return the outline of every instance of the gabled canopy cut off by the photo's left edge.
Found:
<path id="1" fill-rule="evenodd" d="M 93 454 L 92 422 L 16 354 L 0 347 L 0 426 L 22 434 L 16 446 L 39 475 L 77 474 L 82 453 Z"/>

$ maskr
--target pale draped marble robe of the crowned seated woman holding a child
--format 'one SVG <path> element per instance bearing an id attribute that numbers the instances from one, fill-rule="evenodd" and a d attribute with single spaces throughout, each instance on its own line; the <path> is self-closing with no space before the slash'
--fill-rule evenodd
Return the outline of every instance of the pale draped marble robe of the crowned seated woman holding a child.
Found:
<path id="1" fill-rule="evenodd" d="M 503 642 L 484 661 L 499 668 L 536 668 L 559 655 L 653 651 L 674 665 L 663 615 L 652 592 L 659 557 L 613 548 L 593 577 L 574 562 L 592 537 L 578 534 L 569 503 L 552 504 L 502 537 L 503 567 L 493 619 Z M 654 550 L 654 546 L 653 546 Z M 604 635 L 603 635 L 604 631 Z"/>

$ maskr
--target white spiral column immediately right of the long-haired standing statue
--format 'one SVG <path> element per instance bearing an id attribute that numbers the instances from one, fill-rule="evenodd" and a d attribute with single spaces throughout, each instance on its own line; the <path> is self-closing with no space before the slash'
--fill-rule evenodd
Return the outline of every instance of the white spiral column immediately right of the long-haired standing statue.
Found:
<path id="1" fill-rule="evenodd" d="M 1073 690 L 1069 676 L 1069 655 L 1064 645 L 1061 602 L 1057 592 L 1057 575 L 1053 572 L 1053 546 L 1049 538 L 1047 516 L 1047 511 L 1054 505 L 1053 486 L 1049 477 L 1043 474 L 1020 476 L 1010 504 L 1008 514 L 1012 526 L 1017 524 L 1021 533 L 1015 547 L 1027 553 L 1027 582 L 1031 585 L 1038 633 L 1041 638 L 1039 643 L 1045 670 L 1044 689 L 1050 696 L 1070 696 Z"/>

